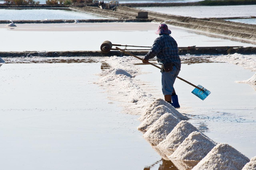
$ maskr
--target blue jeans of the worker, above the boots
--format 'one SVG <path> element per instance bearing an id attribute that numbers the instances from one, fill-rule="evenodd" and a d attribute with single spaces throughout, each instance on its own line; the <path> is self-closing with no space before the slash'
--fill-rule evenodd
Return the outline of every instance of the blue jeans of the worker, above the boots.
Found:
<path id="1" fill-rule="evenodd" d="M 174 65 L 172 71 L 162 72 L 162 91 L 163 95 L 172 95 L 173 84 L 178 77 L 180 70 Z"/>

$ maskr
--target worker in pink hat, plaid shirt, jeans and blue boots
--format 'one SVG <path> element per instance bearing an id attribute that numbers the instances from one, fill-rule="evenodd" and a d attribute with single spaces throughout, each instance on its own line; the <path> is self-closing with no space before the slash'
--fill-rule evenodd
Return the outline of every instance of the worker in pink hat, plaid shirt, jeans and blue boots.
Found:
<path id="1" fill-rule="evenodd" d="M 165 23 L 159 25 L 155 32 L 159 35 L 154 41 L 150 51 L 142 60 L 147 64 L 150 58 L 157 57 L 157 62 L 162 65 L 162 91 L 165 101 L 170 103 L 173 107 L 179 108 L 178 96 L 175 93 L 173 84 L 180 72 L 180 56 L 178 54 L 178 45 L 171 34 L 171 30 Z"/>

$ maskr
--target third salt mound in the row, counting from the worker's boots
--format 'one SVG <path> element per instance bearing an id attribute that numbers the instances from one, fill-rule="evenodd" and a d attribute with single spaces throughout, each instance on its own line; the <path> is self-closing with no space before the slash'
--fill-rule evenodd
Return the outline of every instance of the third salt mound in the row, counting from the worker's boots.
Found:
<path id="1" fill-rule="evenodd" d="M 143 135 L 147 139 L 164 140 L 180 120 L 170 113 L 162 115 Z"/>

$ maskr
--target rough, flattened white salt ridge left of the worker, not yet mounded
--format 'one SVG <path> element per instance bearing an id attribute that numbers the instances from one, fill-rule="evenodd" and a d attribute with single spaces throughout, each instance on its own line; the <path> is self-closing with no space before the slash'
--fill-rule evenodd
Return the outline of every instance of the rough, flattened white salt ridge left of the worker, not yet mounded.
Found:
<path id="1" fill-rule="evenodd" d="M 134 65 L 138 60 L 127 56 L 112 56 L 107 61 L 114 69 L 106 69 L 99 74 L 102 77 L 97 82 L 99 86 L 108 90 L 110 99 L 121 101 L 125 113 L 144 113 L 145 105 L 153 102 L 155 98 L 141 88 L 140 80 L 134 79 L 139 74 L 139 67 Z"/>

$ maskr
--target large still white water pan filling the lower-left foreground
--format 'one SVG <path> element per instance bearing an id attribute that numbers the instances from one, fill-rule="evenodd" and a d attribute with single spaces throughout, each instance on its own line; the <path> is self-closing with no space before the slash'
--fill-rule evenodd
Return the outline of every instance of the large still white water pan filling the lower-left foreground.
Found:
<path id="1" fill-rule="evenodd" d="M 100 63 L 0 72 L 3 169 L 143 169 L 161 160 L 136 130 L 138 116 L 121 114 L 93 83 Z"/>

